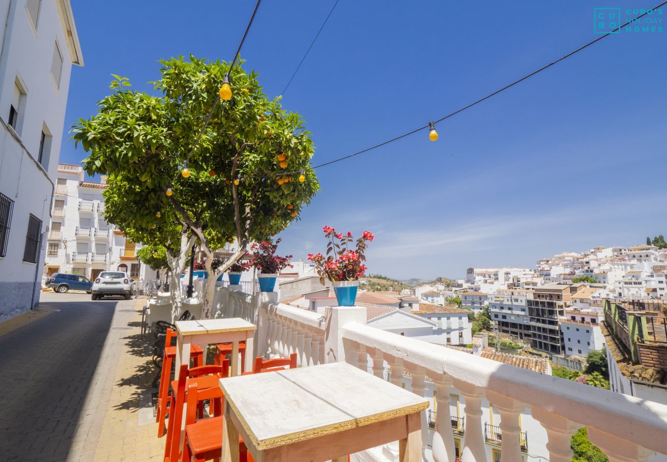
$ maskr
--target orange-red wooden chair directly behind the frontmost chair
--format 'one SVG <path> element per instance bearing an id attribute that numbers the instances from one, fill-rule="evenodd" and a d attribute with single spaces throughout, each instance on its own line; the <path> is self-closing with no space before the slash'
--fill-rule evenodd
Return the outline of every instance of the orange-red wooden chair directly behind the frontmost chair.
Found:
<path id="1" fill-rule="evenodd" d="M 183 405 L 185 404 L 187 387 L 196 385 L 200 390 L 210 390 L 210 394 L 217 399 L 211 399 L 209 412 L 212 414 L 222 413 L 222 391 L 219 380 L 229 375 L 229 360 L 225 359 L 219 366 L 199 366 L 191 369 L 187 365 L 181 365 L 178 380 L 171 382 L 171 401 L 169 403 L 169 425 L 167 427 L 167 439 L 165 441 L 165 461 L 178 461 L 181 457 L 181 423 L 183 422 Z M 206 398 L 209 399 L 209 398 Z M 203 417 L 203 401 L 195 401 L 191 412 L 197 412 Z"/>

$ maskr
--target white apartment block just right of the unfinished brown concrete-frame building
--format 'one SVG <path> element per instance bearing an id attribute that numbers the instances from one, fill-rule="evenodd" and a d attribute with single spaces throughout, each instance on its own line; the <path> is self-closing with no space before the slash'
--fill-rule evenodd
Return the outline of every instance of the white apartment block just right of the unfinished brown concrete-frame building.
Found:
<path id="1" fill-rule="evenodd" d="M 602 313 L 565 310 L 560 316 L 560 331 L 563 333 L 566 356 L 586 357 L 589 351 L 602 350 L 605 341 L 600 330 Z"/>

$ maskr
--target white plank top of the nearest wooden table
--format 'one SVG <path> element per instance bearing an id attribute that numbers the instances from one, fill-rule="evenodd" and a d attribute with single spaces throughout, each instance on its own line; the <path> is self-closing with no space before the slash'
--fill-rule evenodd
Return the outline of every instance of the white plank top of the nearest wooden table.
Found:
<path id="1" fill-rule="evenodd" d="M 428 408 L 423 397 L 348 363 L 229 377 L 220 388 L 260 450 Z"/>

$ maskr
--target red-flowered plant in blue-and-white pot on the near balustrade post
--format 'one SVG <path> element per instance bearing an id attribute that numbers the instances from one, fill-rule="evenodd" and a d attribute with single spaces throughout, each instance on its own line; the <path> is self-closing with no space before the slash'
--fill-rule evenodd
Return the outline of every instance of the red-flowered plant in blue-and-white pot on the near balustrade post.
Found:
<path id="1" fill-rule="evenodd" d="M 362 263 L 366 261 L 364 252 L 368 242 L 372 242 L 375 236 L 370 231 L 364 231 L 356 242 L 356 248 L 350 250 L 350 244 L 354 241 L 351 232 L 343 235 L 331 226 L 324 226 L 322 230 L 329 240 L 327 256 L 325 258 L 321 253 L 308 254 L 308 260 L 315 264 L 322 284 L 324 278 L 331 281 L 338 306 L 354 306 L 359 278 L 366 271 L 366 265 Z"/>

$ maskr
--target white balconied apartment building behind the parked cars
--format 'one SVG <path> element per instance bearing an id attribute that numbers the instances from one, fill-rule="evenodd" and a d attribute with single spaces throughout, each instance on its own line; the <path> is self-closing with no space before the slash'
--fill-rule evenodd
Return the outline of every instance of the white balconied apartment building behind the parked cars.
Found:
<path id="1" fill-rule="evenodd" d="M 105 183 L 84 181 L 81 166 L 58 164 L 51 230 L 47 236 L 46 272 L 80 274 L 94 280 L 102 271 L 125 271 L 145 278 L 135 244 L 103 217 Z M 143 268 L 141 268 L 143 267 Z M 143 272 L 142 271 L 142 272 Z M 149 277 L 154 277 L 153 273 Z"/>

